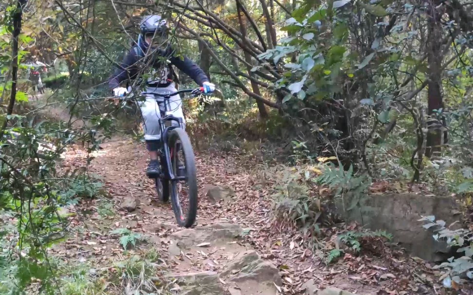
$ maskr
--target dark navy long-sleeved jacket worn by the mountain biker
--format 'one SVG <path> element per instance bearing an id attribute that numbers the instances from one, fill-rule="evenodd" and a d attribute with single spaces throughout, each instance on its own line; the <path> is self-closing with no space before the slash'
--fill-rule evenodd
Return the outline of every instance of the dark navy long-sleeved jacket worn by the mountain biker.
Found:
<path id="1" fill-rule="evenodd" d="M 116 69 L 115 72 L 110 76 L 110 89 L 118 87 L 121 82 L 127 79 L 133 80 L 138 76 L 138 73 L 140 71 L 140 65 L 146 65 L 148 58 L 141 57 L 138 52 L 139 49 L 136 46 L 130 49 L 130 51 L 127 53 L 122 63 L 120 64 L 121 68 Z M 209 81 L 207 75 L 202 69 L 200 69 L 200 67 L 196 63 L 194 63 L 186 56 L 176 56 L 175 52 L 170 47 L 166 50 L 158 50 L 155 53 L 154 61 L 152 62 L 153 68 L 166 68 L 166 65 L 163 65 L 162 62 L 162 60 L 165 60 L 166 58 L 171 62 L 171 65 L 176 66 L 178 69 L 189 75 L 189 77 L 191 77 L 197 84 L 199 84 L 199 86 L 202 86 L 203 82 Z M 172 68 L 170 70 L 166 70 L 166 75 L 166 78 L 168 80 L 173 79 Z"/>

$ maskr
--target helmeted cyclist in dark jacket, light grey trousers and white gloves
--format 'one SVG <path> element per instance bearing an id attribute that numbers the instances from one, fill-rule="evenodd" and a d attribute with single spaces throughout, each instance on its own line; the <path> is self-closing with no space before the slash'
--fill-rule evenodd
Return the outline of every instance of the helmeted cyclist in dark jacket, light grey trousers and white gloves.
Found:
<path id="1" fill-rule="evenodd" d="M 178 56 L 171 48 L 169 27 L 165 19 L 159 15 L 144 17 L 140 22 L 140 31 L 137 44 L 130 49 L 120 68 L 116 69 L 109 78 L 109 88 L 115 96 L 127 95 L 128 89 L 120 87 L 120 83 L 128 79 L 136 79 L 140 75 L 141 68 L 152 68 L 152 74 L 146 80 L 146 92 L 165 94 L 177 91 L 173 82 L 175 77 L 173 65 L 203 87 L 205 93 L 215 90 L 215 85 L 210 83 L 207 75 L 196 63 L 186 56 Z M 158 122 L 161 118 L 160 109 L 164 111 L 163 102 L 162 97 L 147 95 L 146 100 L 140 103 L 146 148 L 150 157 L 146 175 L 150 178 L 158 177 L 161 173 L 158 162 L 161 131 Z M 169 103 L 172 115 L 181 118 L 185 123 L 180 96 L 171 97 Z M 173 121 L 173 123 L 177 122 Z"/>

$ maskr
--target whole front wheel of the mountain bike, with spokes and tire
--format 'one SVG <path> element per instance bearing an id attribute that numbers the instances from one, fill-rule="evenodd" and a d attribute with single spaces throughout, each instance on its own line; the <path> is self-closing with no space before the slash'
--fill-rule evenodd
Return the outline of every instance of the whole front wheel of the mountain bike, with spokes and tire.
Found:
<path id="1" fill-rule="evenodd" d="M 197 175 L 196 161 L 187 133 L 182 128 L 175 128 L 169 133 L 169 151 L 171 169 L 182 180 L 171 180 L 171 203 L 176 220 L 180 226 L 190 227 L 197 215 Z"/>

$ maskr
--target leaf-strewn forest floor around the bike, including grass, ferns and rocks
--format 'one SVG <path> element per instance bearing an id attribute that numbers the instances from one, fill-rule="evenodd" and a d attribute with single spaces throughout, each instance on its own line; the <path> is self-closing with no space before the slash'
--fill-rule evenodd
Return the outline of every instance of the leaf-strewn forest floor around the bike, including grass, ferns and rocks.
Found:
<path id="1" fill-rule="evenodd" d="M 62 110 L 45 111 L 69 120 Z M 88 154 L 74 145 L 64 154 L 63 169 L 87 166 L 107 192 L 64 208 L 70 235 L 51 254 L 70 268 L 87 267 L 106 294 L 131 295 L 137 289 L 158 294 L 165 288 L 187 295 L 446 294 L 432 265 L 384 244 L 359 255 L 346 252 L 327 265 L 321 253 L 355 225 L 325 228 L 318 240 L 327 248 L 309 248 L 307 233 L 274 218 L 271 184 L 260 181 L 249 156 L 196 151 L 199 209 L 195 226 L 184 229 L 146 178 L 143 144 L 116 136 L 101 148 Z M 121 242 L 127 241 L 124 250 Z M 138 276 L 128 267 L 151 256 L 150 272 L 147 262 Z M 334 287 L 346 293 L 322 291 Z"/>

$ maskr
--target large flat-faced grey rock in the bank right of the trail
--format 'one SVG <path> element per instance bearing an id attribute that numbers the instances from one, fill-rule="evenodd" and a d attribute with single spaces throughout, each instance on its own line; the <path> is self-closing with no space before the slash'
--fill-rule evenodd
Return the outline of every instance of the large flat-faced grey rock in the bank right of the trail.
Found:
<path id="1" fill-rule="evenodd" d="M 439 252 L 446 252 L 445 244 L 432 238 L 432 231 L 418 222 L 420 215 L 434 215 L 447 225 L 459 220 L 458 204 L 452 197 L 418 194 L 370 194 L 360 200 L 360 206 L 351 210 L 348 198 L 337 204 L 339 213 L 348 221 L 372 230 L 382 229 L 394 235 L 395 241 L 413 256 L 437 260 Z"/>

